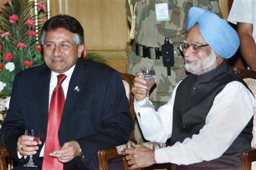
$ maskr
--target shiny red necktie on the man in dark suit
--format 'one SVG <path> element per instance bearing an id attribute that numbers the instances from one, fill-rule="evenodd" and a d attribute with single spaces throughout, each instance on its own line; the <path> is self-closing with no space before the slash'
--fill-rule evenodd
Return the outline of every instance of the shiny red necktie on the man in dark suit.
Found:
<path id="1" fill-rule="evenodd" d="M 57 75 L 58 82 L 54 88 L 51 97 L 51 103 L 48 115 L 46 146 L 44 149 L 44 159 L 42 161 L 42 170 L 62 170 L 63 164 L 57 158 L 49 156 L 49 153 L 61 149 L 59 144 L 59 124 L 61 123 L 62 111 L 65 104 L 64 92 L 61 83 L 67 76 L 64 74 Z"/>

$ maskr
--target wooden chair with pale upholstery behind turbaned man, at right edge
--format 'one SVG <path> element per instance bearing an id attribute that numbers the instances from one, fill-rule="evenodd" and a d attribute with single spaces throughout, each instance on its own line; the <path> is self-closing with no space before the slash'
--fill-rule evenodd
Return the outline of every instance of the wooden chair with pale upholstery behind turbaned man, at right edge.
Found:
<path id="1" fill-rule="evenodd" d="M 234 72 L 237 76 L 244 79 L 245 83 L 247 83 L 248 87 L 256 97 L 256 72 L 252 70 L 245 70 L 242 68 L 234 68 Z M 254 119 L 256 116 L 255 111 L 256 110 L 254 109 Z M 252 143 L 254 143 L 254 139 Z M 240 154 L 240 159 L 242 162 L 242 170 L 251 170 L 252 162 L 256 161 L 256 149 L 252 148 L 248 150 L 242 150 Z"/>

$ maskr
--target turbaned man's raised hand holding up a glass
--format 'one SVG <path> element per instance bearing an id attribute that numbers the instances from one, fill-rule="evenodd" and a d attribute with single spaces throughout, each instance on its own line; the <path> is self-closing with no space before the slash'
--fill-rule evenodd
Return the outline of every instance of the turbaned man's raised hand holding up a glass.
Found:
<path id="1" fill-rule="evenodd" d="M 136 73 L 136 77 L 134 78 L 134 84 L 132 85 L 132 93 L 134 94 L 137 102 L 144 100 L 147 89 L 146 82 L 143 78 L 140 77 L 141 75 L 143 75 L 142 72 Z"/>

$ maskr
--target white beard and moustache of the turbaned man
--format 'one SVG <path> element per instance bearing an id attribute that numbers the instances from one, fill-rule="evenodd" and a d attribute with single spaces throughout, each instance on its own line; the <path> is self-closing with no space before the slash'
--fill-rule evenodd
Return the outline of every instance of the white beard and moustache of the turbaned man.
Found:
<path id="1" fill-rule="evenodd" d="M 205 62 L 202 63 L 202 69 L 200 69 L 201 60 L 198 57 L 195 57 L 195 59 L 189 59 L 189 57 L 184 57 L 184 58 L 185 58 L 185 69 L 187 70 L 187 72 L 190 72 L 195 75 L 204 74 L 217 67 L 216 54 L 213 50 L 210 52 L 209 55 L 206 56 Z M 187 64 L 188 61 L 197 62 L 197 63 Z"/>

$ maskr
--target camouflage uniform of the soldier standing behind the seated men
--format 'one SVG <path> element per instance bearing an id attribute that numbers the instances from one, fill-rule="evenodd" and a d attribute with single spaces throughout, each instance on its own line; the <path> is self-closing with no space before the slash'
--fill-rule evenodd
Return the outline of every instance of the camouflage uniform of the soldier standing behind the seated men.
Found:
<path id="1" fill-rule="evenodd" d="M 135 6 L 137 2 L 137 6 Z M 167 2 L 169 4 L 170 21 L 156 21 L 155 2 Z M 127 62 L 127 73 L 134 74 L 144 68 L 153 68 L 157 75 L 156 87 L 150 93 L 150 100 L 155 108 L 167 103 L 172 90 L 185 76 L 184 58 L 180 54 L 179 43 L 185 39 L 187 26 L 187 12 L 190 7 L 202 7 L 221 15 L 218 1 L 209 0 L 130 0 L 135 6 L 135 40 L 130 50 Z M 129 2 L 127 1 L 127 16 L 131 25 Z M 165 37 L 169 37 L 170 43 L 174 44 L 174 67 L 170 67 L 171 75 L 167 76 L 167 68 L 164 67 L 162 57 L 159 59 L 143 58 L 135 54 L 135 44 L 146 47 L 161 47 Z M 142 138 L 135 124 L 135 138 L 140 143 Z M 136 132 L 137 131 L 137 132 Z"/>

